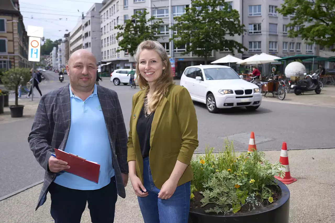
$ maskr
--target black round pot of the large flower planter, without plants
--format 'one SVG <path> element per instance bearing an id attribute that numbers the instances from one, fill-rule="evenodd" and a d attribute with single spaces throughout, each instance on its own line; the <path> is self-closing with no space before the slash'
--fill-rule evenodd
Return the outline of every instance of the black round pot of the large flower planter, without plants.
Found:
<path id="1" fill-rule="evenodd" d="M 248 212 L 227 213 L 225 216 L 190 209 L 188 223 L 288 223 L 290 192 L 285 184 L 276 180 L 281 197 L 273 204 Z"/>

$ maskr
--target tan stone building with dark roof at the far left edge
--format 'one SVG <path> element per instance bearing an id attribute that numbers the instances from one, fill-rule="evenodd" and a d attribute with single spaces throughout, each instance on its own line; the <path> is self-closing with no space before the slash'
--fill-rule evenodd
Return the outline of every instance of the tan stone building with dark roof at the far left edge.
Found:
<path id="1" fill-rule="evenodd" d="M 2 0 L 0 6 L 0 69 L 31 67 L 28 36 L 18 0 Z"/>

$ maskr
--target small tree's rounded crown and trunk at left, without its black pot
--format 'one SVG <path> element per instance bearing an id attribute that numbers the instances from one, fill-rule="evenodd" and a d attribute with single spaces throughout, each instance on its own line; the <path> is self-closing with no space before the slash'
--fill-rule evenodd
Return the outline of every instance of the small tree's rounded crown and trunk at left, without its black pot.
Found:
<path id="1" fill-rule="evenodd" d="M 11 68 L 3 74 L 2 81 L 8 90 L 15 90 L 15 106 L 18 105 L 18 87 L 30 80 L 29 68 Z"/>

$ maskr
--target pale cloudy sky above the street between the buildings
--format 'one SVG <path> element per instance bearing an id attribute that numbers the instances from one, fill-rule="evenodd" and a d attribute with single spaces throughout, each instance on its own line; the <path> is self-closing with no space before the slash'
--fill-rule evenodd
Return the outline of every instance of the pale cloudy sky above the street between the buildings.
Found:
<path id="1" fill-rule="evenodd" d="M 94 2 L 102 0 L 19 0 L 25 28 L 42 26 L 45 39 L 52 41 L 64 39 L 64 34 L 72 31 Z"/>

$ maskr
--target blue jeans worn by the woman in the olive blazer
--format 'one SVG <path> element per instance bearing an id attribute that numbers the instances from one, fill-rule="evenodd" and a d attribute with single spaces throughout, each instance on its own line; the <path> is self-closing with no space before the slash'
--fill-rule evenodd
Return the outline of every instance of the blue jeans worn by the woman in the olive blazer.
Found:
<path id="1" fill-rule="evenodd" d="M 148 196 L 138 197 L 145 223 L 187 223 L 190 211 L 191 183 L 177 187 L 170 199 L 158 198 L 159 189 L 152 180 L 149 157 L 143 159 L 143 181 Z"/>

